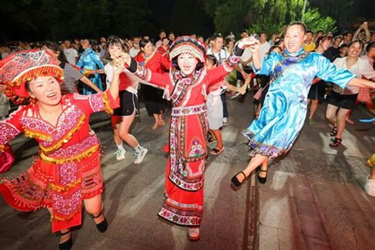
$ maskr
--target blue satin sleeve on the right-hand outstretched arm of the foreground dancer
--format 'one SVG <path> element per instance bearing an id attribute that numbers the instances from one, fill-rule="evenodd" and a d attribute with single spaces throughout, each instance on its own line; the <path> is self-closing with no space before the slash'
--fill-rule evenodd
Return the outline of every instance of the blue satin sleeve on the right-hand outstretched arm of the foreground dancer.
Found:
<path id="1" fill-rule="evenodd" d="M 328 82 L 333 82 L 341 88 L 345 88 L 347 83 L 355 77 L 355 74 L 345 68 L 337 68 L 322 55 L 318 56 L 317 68 L 317 77 Z"/>

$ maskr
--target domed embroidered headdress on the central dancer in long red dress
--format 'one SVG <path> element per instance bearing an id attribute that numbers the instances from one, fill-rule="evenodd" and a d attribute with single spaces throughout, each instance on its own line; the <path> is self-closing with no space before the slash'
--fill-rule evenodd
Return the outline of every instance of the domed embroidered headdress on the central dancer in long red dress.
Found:
<path id="1" fill-rule="evenodd" d="M 204 42 L 193 36 L 183 35 L 177 37 L 170 45 L 169 58 L 173 59 L 181 53 L 188 53 L 197 58 L 200 62 L 205 62 L 206 45 Z"/>

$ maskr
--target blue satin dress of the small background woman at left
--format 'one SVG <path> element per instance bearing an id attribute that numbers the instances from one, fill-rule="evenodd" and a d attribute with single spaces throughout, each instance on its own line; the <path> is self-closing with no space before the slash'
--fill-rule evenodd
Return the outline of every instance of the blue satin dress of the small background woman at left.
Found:
<path id="1" fill-rule="evenodd" d="M 79 60 L 77 62 L 77 66 L 82 68 L 81 73 L 83 73 L 84 69 L 102 69 L 104 68 L 103 63 L 97 56 L 96 52 L 92 48 L 86 48 L 81 56 L 79 57 Z M 98 73 L 96 74 L 90 74 L 88 78 L 100 89 L 103 90 L 103 86 L 101 84 L 100 75 Z M 93 90 L 91 87 L 89 87 L 86 84 L 83 84 L 83 94 L 92 94 L 96 93 L 95 90 Z"/>

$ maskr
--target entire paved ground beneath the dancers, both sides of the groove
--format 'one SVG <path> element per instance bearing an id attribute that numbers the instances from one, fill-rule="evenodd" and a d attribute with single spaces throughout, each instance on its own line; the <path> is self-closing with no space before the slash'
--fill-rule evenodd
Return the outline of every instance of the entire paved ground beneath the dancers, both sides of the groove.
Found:
<path id="1" fill-rule="evenodd" d="M 229 180 L 248 160 L 240 131 L 251 121 L 252 104 L 228 101 L 229 125 L 223 129 L 225 151 L 210 157 L 204 185 L 201 239 L 189 242 L 186 229 L 157 218 L 163 196 L 166 157 L 161 152 L 167 127 L 150 129 L 152 119 L 144 109 L 133 134 L 149 149 L 144 162 L 132 163 L 132 150 L 116 161 L 109 120 L 92 117 L 92 127 L 102 141 L 103 200 L 108 231 L 99 233 L 85 213 L 83 225 L 73 232 L 73 249 L 243 249 L 246 248 L 248 218 L 246 185 L 237 191 Z M 306 124 L 291 152 L 270 165 L 266 184 L 259 186 L 260 249 L 375 249 L 375 199 L 362 186 L 368 174 L 365 158 L 375 151 L 375 130 L 349 127 L 339 149 L 328 147 L 329 128 L 319 106 L 315 125 Z M 240 112 L 238 112 L 240 110 Z M 354 118 L 366 117 L 360 110 Z M 37 147 L 17 137 L 12 142 L 17 161 L 2 176 L 15 176 L 27 169 Z M 21 213 L 0 199 L 1 249 L 53 249 L 45 210 Z M 256 218 L 255 218 L 256 219 Z"/>

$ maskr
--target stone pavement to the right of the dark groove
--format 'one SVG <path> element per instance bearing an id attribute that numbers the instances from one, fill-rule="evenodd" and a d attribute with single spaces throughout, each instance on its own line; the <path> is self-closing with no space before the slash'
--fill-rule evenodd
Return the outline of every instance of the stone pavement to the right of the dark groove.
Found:
<path id="1" fill-rule="evenodd" d="M 347 125 L 342 145 L 331 148 L 320 104 L 290 153 L 270 165 L 258 184 L 259 249 L 375 249 L 375 197 L 363 191 L 375 152 L 375 130 Z M 352 119 L 367 117 L 356 109 Z"/>

